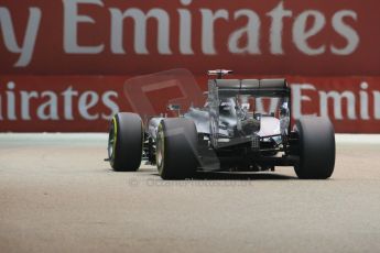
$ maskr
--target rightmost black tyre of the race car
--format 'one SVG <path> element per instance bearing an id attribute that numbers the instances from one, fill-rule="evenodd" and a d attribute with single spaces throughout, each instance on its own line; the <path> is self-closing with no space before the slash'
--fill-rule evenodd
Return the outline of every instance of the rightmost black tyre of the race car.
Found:
<path id="1" fill-rule="evenodd" d="M 300 163 L 294 170 L 301 179 L 327 179 L 335 166 L 335 133 L 327 118 L 310 117 L 296 122 Z"/>

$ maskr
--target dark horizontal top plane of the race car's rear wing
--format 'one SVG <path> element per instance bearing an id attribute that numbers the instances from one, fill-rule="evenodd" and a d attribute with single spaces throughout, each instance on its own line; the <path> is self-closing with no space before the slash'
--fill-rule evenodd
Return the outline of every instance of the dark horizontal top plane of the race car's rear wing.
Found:
<path id="1" fill-rule="evenodd" d="M 253 97 L 289 97 L 286 79 L 210 79 L 208 90 L 219 97 L 250 95 Z"/>

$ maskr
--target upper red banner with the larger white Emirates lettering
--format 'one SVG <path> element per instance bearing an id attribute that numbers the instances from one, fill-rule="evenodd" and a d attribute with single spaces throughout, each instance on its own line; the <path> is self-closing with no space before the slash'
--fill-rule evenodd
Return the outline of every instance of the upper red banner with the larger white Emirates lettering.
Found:
<path id="1" fill-rule="evenodd" d="M 378 0 L 2 0 L 0 75 L 379 76 L 379 10 Z"/>

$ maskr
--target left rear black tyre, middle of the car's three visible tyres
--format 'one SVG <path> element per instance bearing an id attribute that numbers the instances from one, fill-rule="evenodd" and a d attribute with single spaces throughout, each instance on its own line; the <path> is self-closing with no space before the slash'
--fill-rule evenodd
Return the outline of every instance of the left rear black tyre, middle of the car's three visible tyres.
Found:
<path id="1" fill-rule="evenodd" d="M 197 131 L 185 118 L 161 121 L 156 139 L 156 164 L 163 179 L 185 179 L 194 176 L 197 164 Z"/>

